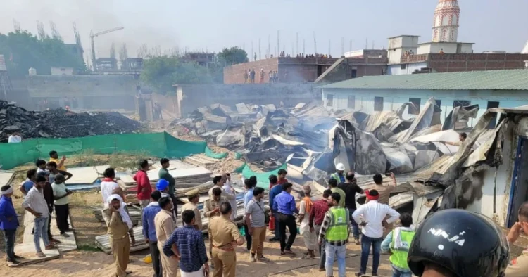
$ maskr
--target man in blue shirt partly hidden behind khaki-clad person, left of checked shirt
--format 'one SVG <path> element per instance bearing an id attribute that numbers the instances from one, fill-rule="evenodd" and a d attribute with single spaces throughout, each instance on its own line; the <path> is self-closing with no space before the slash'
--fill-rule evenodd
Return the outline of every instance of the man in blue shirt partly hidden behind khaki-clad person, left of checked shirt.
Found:
<path id="1" fill-rule="evenodd" d="M 152 257 L 152 267 L 154 269 L 154 276 L 162 277 L 163 272 L 160 262 L 160 250 L 158 249 L 158 238 L 156 238 L 156 226 L 154 225 L 154 217 L 161 211 L 158 200 L 161 198 L 160 191 L 153 191 L 151 193 L 151 202 L 143 209 L 142 226 L 143 236 L 146 243 L 149 243 Z"/>

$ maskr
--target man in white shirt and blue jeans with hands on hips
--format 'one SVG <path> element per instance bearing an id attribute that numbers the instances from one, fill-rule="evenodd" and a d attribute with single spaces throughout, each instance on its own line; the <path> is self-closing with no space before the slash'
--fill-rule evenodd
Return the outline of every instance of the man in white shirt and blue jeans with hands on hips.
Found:
<path id="1" fill-rule="evenodd" d="M 363 233 L 361 237 L 361 266 L 356 276 L 363 276 L 367 271 L 370 245 L 372 245 L 372 276 L 377 276 L 379 255 L 383 241 L 383 226 L 396 221 L 400 217 L 400 214 L 389 207 L 389 205 L 380 204 L 377 201 L 379 199 L 379 193 L 375 189 L 365 191 L 365 194 L 369 201 L 352 214 L 353 219 L 359 226 L 363 226 L 361 229 L 361 233 Z M 387 215 L 390 217 L 385 220 Z"/>

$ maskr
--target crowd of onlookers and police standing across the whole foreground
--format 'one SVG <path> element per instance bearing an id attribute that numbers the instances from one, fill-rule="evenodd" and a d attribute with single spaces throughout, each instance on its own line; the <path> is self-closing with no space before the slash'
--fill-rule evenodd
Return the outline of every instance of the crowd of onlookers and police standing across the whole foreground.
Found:
<path id="1" fill-rule="evenodd" d="M 56 151 L 49 153 L 50 160 L 38 160 L 37 169 L 27 172 L 20 185 L 25 195 L 23 207 L 34 215 L 34 243 L 38 257 L 43 257 L 40 239 L 46 249 L 61 243 L 51 236 L 51 213 L 56 213 L 56 224 L 61 236 L 68 237 L 68 195 L 71 191 L 65 181 L 71 178 L 65 167 L 65 156 L 58 159 Z M 367 263 L 372 249 L 372 272 L 378 276 L 381 252 L 390 254 L 393 276 L 526 276 L 528 261 L 521 256 L 510 266 L 509 244 L 515 243 L 520 233 L 528 232 L 528 202 L 519 210 L 519 222 L 504 236 L 490 219 L 465 210 L 451 209 L 435 212 L 419 228 L 413 228 L 413 217 L 398 213 L 389 204 L 390 193 L 396 188 L 396 178 L 390 174 L 391 183 L 385 184 L 381 174 L 375 174 L 375 186 L 363 191 L 356 183 L 352 170 L 346 172 L 342 164 L 330 176 L 328 188 L 322 198 L 312 196 L 310 186 L 303 186 L 301 200 L 292 195 L 293 185 L 287 171 L 280 169 L 277 176 L 269 176 L 269 207 L 263 199 L 265 190 L 257 186 L 256 176 L 244 180 L 243 214 L 237 214 L 237 192 L 232 187 L 228 173 L 213 177 L 209 198 L 203 203 L 203 217 L 208 218 L 206 233 L 209 247 L 202 234 L 202 214 L 197 207 L 199 190 L 185 193 L 188 202 L 177 212 L 175 180 L 170 176 L 168 159 L 161 160 L 159 181 L 153 190 L 146 171 L 149 163 L 139 162 L 134 176 L 137 182 L 137 200 L 142 207 L 142 233 L 149 243 L 154 276 L 236 276 L 236 247 L 246 243 L 250 262 L 269 262 L 263 243 L 267 226 L 275 225 L 271 243 L 279 242 L 279 254 L 294 257 L 292 250 L 298 233 L 303 237 L 306 252 L 301 259 L 316 259 L 325 276 L 346 276 L 346 246 L 353 241 L 361 247 L 360 268 L 356 276 L 367 274 Z M 134 229 L 127 210 L 127 198 L 115 181 L 115 169 L 108 168 L 101 181 L 103 219 L 108 228 L 111 249 L 115 259 L 115 276 L 130 274 L 130 247 L 136 243 Z M 356 195 L 365 194 L 366 202 L 356 207 Z M 11 201 L 12 186 L 1 188 L 0 228 L 6 239 L 6 253 L 10 264 L 18 264 L 14 240 L 18 219 Z M 243 231 L 234 219 L 243 216 Z M 177 226 L 177 217 L 183 226 Z M 400 226 L 394 228 L 394 222 Z M 297 228 L 297 226 L 299 227 Z M 288 233 L 287 230 L 288 229 Z M 350 237 L 352 235 L 352 238 Z M 245 238 L 245 239 L 244 239 Z M 353 239 L 353 240 L 352 240 Z M 484 241 L 485 240 L 485 241 Z M 316 250 L 318 253 L 316 253 Z M 269 251 L 269 250 L 268 250 Z M 278 252 L 278 251 L 277 251 Z M 504 275 L 506 272 L 506 275 Z M 509 272 L 509 273 L 508 273 Z"/>

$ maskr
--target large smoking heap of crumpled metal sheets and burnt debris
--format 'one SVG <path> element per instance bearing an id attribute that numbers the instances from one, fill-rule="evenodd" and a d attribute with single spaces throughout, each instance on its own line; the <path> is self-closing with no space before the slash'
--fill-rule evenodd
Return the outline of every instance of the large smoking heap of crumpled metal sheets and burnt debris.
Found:
<path id="1" fill-rule="evenodd" d="M 263 169 L 288 163 L 301 178 L 325 179 L 339 162 L 358 174 L 406 174 L 456 153 L 457 146 L 446 146 L 441 140 L 457 141 L 453 129 L 467 128 L 467 119 L 478 111 L 478 106 L 456 108 L 442 125 L 434 98 L 418 115 L 404 118 L 411 105 L 366 114 L 327 110 L 315 101 L 295 107 L 214 104 L 196 109 L 170 127 L 178 135 L 200 136 L 233 150 L 244 162 Z"/>

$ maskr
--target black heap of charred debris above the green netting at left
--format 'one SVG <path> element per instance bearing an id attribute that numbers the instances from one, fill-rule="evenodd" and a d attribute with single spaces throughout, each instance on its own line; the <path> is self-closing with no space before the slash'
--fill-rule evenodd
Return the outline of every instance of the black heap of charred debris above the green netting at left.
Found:
<path id="1" fill-rule="evenodd" d="M 13 103 L 0 101 L 0 137 L 18 131 L 28 138 L 71 138 L 137 131 L 141 123 L 118 112 L 75 113 L 64 109 L 28 111 Z"/>

